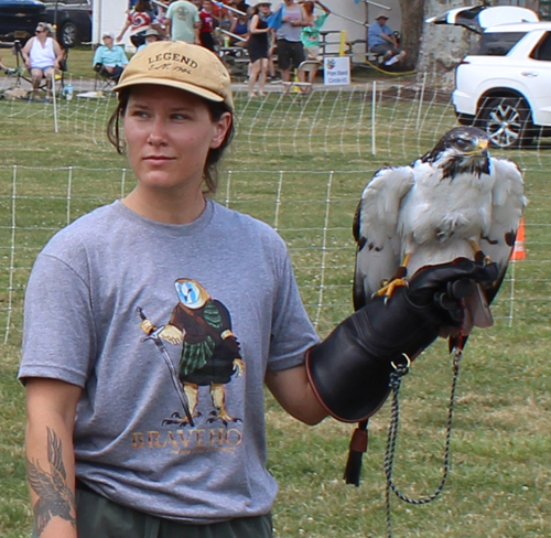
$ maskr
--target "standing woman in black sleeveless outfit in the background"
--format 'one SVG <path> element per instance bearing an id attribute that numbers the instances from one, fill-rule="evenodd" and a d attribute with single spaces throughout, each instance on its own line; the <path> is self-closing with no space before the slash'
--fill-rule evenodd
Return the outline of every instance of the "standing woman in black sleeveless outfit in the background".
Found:
<path id="1" fill-rule="evenodd" d="M 267 19 L 270 14 L 271 3 L 266 0 L 256 0 L 252 4 L 252 17 L 249 22 L 249 97 L 257 97 L 255 85 L 264 96 L 266 78 L 268 76 L 268 58 L 270 50 L 270 32 Z"/>

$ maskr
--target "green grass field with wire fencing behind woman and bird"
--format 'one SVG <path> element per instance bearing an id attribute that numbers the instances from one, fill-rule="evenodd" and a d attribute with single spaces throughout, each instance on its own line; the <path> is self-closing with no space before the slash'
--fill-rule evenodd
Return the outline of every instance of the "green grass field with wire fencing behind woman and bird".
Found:
<path id="1" fill-rule="evenodd" d="M 114 99 L 61 101 L 60 132 L 54 133 L 50 108 L 0 101 L 0 336 L 6 338 L 0 362 L 0 536 L 6 538 L 26 538 L 31 527 L 24 400 L 15 379 L 24 282 L 36 252 L 56 229 L 132 186 L 125 160 L 102 134 L 112 105 Z M 217 197 L 278 228 L 309 313 L 326 334 L 352 311 L 350 225 L 364 185 L 381 165 L 406 164 L 431 149 L 454 126 L 453 110 L 445 98 L 425 96 L 419 104 L 414 94 L 396 88 L 375 100 L 365 89 L 353 95 L 320 92 L 309 100 L 274 94 L 250 101 L 239 94 L 237 107 L 239 134 L 224 163 Z M 428 506 L 395 497 L 396 537 L 551 535 L 551 149 L 503 154 L 526 171 L 528 259 L 515 266 L 515 301 L 508 279 L 494 308 L 495 326 L 473 334 L 465 351 L 449 484 Z M 403 381 L 395 474 L 408 494 L 432 493 L 440 480 L 451 379 L 451 361 L 439 342 Z M 352 426 L 332 419 L 315 428 L 303 426 L 269 396 L 267 409 L 269 466 L 280 484 L 277 536 L 386 536 L 382 458 L 389 406 L 371 420 L 359 488 L 341 480 Z"/>

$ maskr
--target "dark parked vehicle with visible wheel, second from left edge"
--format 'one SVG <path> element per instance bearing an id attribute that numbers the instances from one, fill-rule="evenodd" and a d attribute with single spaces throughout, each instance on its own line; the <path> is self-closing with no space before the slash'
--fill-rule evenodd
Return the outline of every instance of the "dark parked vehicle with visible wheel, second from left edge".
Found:
<path id="1" fill-rule="evenodd" d="M 64 49 L 91 41 L 91 0 L 45 1 L 46 21 L 57 28 Z"/>

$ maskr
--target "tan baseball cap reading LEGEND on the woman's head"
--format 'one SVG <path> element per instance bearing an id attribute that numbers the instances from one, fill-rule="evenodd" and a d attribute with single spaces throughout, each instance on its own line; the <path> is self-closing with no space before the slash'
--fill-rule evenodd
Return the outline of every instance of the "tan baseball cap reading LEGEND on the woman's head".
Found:
<path id="1" fill-rule="evenodd" d="M 234 110 L 230 76 L 216 54 L 184 41 L 158 41 L 138 51 L 122 72 L 120 92 L 137 84 L 159 84 L 185 89 Z"/>

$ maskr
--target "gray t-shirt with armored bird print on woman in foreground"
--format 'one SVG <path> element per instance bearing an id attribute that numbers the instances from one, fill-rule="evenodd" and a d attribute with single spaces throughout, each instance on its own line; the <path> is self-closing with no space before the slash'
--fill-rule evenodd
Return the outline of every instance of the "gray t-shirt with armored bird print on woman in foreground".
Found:
<path id="1" fill-rule="evenodd" d="M 187 314 L 213 326 L 225 316 L 239 342 L 245 373 L 223 385 L 238 420 L 209 421 L 215 407 L 203 385 L 195 427 L 179 423 L 166 363 L 144 341 L 137 309 L 155 326 L 169 323 L 182 279 L 198 282 L 216 305 L 208 319 L 206 310 Z M 192 325 L 183 323 L 184 334 L 197 343 Z M 61 230 L 39 255 L 19 376 L 84 388 L 74 438 L 86 484 L 159 517 L 213 523 L 270 510 L 277 485 L 266 470 L 264 374 L 301 364 L 316 342 L 285 246 L 268 225 L 210 201 L 188 225 L 152 222 L 116 202 Z M 164 344 L 181 368 L 183 345 Z"/>

